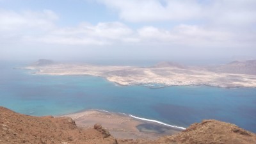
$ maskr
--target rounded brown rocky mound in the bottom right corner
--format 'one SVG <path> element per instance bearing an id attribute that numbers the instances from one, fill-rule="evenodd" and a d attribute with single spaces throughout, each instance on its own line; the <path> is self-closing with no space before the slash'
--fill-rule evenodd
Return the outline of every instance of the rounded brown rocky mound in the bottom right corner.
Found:
<path id="1" fill-rule="evenodd" d="M 252 144 L 256 143 L 256 135 L 234 124 L 204 120 L 199 124 L 190 125 L 179 134 L 161 138 L 158 143 Z"/>

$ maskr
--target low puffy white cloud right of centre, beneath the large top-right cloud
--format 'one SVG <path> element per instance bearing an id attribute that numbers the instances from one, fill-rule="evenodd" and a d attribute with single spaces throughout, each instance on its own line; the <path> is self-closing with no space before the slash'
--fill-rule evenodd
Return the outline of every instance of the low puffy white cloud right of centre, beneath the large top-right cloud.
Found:
<path id="1" fill-rule="evenodd" d="M 138 29 L 141 40 L 154 43 L 190 46 L 225 46 L 232 41 L 233 33 L 180 24 L 171 30 L 144 27 Z"/>

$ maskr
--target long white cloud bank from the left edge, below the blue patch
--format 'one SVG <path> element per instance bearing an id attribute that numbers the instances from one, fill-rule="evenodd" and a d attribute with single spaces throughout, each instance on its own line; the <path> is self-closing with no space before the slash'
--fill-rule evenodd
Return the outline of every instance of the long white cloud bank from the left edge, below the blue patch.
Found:
<path id="1" fill-rule="evenodd" d="M 99 22 L 93 26 L 56 26 L 58 15 L 51 10 L 13 12 L 0 10 L 1 42 L 37 42 L 46 44 L 108 45 L 113 42 L 135 42 L 134 31 L 120 22 Z"/>

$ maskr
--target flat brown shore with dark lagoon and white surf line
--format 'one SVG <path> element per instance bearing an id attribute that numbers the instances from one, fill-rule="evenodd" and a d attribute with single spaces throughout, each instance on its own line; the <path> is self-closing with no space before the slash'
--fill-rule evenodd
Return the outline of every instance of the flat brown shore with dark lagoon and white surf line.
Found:
<path id="1" fill-rule="evenodd" d="M 96 123 L 101 124 L 115 138 L 157 139 L 160 136 L 177 134 L 185 129 L 184 127 L 168 125 L 157 120 L 99 109 L 90 109 L 60 116 L 72 118 L 78 127 L 83 128 L 91 128 Z"/>

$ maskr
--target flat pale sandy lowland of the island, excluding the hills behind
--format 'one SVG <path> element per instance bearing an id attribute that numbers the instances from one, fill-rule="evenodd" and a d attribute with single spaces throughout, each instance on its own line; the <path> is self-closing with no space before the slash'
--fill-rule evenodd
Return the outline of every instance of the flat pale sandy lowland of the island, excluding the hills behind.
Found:
<path id="1" fill-rule="evenodd" d="M 72 70 L 70 70 L 72 67 Z M 256 79 L 248 74 L 217 73 L 205 69 L 141 68 L 95 65 L 46 65 L 24 67 L 33 74 L 51 76 L 96 76 L 120 86 L 141 85 L 148 88 L 167 86 L 213 86 L 218 88 L 256 88 Z M 159 73 L 159 70 L 165 73 Z M 180 71 L 180 72 L 177 72 Z M 235 77 L 235 78 L 234 78 Z"/>

